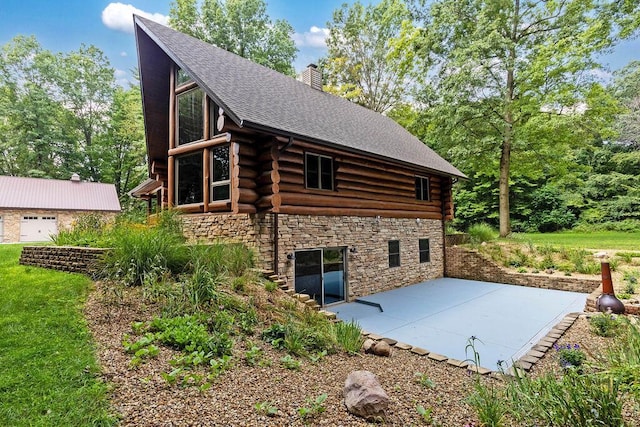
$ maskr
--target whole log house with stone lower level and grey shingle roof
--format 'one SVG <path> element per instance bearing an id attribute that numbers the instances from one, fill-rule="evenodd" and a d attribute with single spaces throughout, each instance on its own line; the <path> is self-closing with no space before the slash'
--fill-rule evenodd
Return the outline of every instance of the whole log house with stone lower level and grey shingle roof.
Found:
<path id="1" fill-rule="evenodd" d="M 135 196 L 184 212 L 191 240 L 255 248 L 321 305 L 443 275 L 458 169 L 322 92 L 313 66 L 297 81 L 134 20 L 150 176 Z"/>

